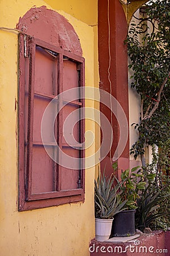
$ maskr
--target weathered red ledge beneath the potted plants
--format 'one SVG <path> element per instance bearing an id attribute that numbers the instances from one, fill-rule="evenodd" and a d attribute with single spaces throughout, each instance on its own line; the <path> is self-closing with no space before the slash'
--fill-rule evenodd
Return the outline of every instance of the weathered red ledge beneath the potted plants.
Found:
<path id="1" fill-rule="evenodd" d="M 169 256 L 170 255 L 170 231 L 156 230 L 149 234 L 141 234 L 133 241 L 98 242 L 90 243 L 91 256 Z"/>

